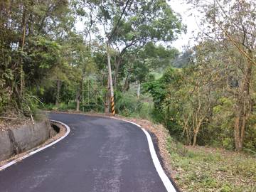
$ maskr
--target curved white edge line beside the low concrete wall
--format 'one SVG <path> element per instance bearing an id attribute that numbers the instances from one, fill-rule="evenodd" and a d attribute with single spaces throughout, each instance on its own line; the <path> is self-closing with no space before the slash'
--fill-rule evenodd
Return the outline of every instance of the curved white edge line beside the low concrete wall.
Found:
<path id="1" fill-rule="evenodd" d="M 7 164 L 4 164 L 3 166 L 0 166 L 0 171 L 6 169 L 7 167 L 13 165 L 13 164 L 16 164 L 18 161 L 21 161 L 23 159 L 26 159 L 28 156 L 31 156 L 33 154 L 36 154 L 38 153 L 39 151 L 42 151 L 43 149 L 46 149 L 48 148 L 49 146 L 53 146 L 53 144 L 56 144 L 58 142 L 60 142 L 62 139 L 64 139 L 65 137 L 67 137 L 67 135 L 70 133 L 70 127 L 68 127 L 67 124 L 64 124 L 63 122 L 58 122 L 58 121 L 55 121 L 55 120 L 52 120 L 50 119 L 51 122 L 57 122 L 59 124 L 62 124 L 66 129 L 67 129 L 67 132 L 65 132 L 65 134 L 63 135 L 63 137 L 60 137 L 59 139 L 55 140 L 54 142 L 51 142 L 50 144 L 47 144 L 46 146 L 42 146 L 41 148 L 39 149 L 36 149 L 35 151 L 31 151 L 29 152 L 28 154 L 24 155 L 24 156 L 21 156 L 19 157 L 18 159 L 15 159 L 14 161 L 10 161 L 8 162 Z"/>

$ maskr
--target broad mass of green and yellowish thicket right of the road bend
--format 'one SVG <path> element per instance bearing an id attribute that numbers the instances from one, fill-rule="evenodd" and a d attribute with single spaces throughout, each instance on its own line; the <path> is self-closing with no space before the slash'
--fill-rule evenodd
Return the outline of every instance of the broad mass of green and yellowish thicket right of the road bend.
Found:
<path id="1" fill-rule="evenodd" d="M 246 97 L 241 95 L 242 81 L 237 80 L 242 73 L 220 60 L 226 57 L 222 49 L 214 41 L 201 43 L 193 48 L 193 60 L 186 68 L 167 69 L 159 80 L 144 84 L 154 100 L 156 121 L 165 124 L 171 135 L 185 144 L 235 149 L 235 118 L 239 115 L 241 121 L 241 100 Z M 251 107 L 252 100 L 247 101 Z M 243 144 L 246 151 L 253 153 L 256 122 L 254 109 L 249 110 Z"/>

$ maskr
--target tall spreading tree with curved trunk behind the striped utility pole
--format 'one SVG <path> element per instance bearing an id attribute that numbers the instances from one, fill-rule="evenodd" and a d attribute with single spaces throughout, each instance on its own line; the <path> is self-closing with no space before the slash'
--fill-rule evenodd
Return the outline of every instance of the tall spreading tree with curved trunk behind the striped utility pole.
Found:
<path id="1" fill-rule="evenodd" d="M 180 16 L 165 0 L 127 1 L 124 5 L 119 1 L 88 1 L 87 4 L 95 6 L 95 24 L 102 25 L 105 38 L 111 38 L 112 47 L 118 51 L 114 55 L 115 87 L 129 48 L 142 48 L 149 41 L 174 41 L 176 34 L 183 30 Z"/>

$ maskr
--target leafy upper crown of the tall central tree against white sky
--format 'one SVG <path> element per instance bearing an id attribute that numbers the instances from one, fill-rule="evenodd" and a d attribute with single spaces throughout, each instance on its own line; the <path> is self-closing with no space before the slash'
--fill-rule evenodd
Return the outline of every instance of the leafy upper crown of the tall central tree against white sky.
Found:
<path id="1" fill-rule="evenodd" d="M 105 1 L 100 8 L 102 18 L 109 21 L 113 28 L 122 13 L 119 11 L 119 4 Z M 181 33 L 182 29 L 181 18 L 174 14 L 166 1 L 134 1 L 114 38 L 120 43 L 135 43 L 142 38 L 144 43 L 148 39 L 173 41 L 176 33 Z M 142 41 L 139 40 L 137 43 Z"/>

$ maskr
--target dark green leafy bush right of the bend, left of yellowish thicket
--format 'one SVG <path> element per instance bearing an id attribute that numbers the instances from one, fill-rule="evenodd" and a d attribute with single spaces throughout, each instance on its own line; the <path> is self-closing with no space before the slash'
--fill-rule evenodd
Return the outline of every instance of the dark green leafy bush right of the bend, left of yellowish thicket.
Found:
<path id="1" fill-rule="evenodd" d="M 185 89 L 182 88 L 181 70 L 169 68 L 164 75 L 154 82 L 144 84 L 144 90 L 149 92 L 154 101 L 154 119 L 166 125 L 169 132 L 180 141 L 184 141 L 182 117 L 187 110 Z"/>

